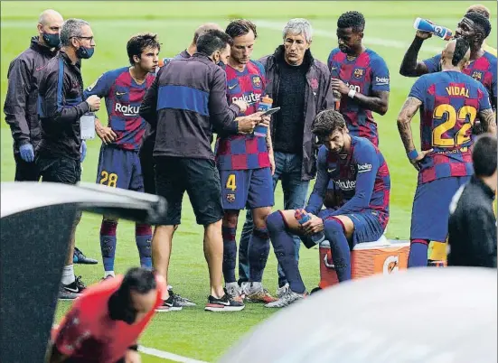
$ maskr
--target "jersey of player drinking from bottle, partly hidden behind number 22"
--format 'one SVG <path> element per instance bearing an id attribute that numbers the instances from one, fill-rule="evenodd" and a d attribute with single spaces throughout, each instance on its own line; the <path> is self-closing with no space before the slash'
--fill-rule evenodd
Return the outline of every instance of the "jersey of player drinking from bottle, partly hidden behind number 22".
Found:
<path id="1" fill-rule="evenodd" d="M 437 54 L 436 56 L 425 60 L 424 63 L 428 67 L 429 73 L 441 71 L 441 54 Z M 498 62 L 496 57 L 489 51 L 484 51 L 484 54 L 481 57 L 475 61 L 471 61 L 470 64 L 465 67 L 463 73 L 481 82 L 488 91 L 490 100 L 493 100 L 498 96 L 496 81 L 496 75 L 498 73 L 497 68 Z M 496 107 L 496 105 L 493 106 Z"/>

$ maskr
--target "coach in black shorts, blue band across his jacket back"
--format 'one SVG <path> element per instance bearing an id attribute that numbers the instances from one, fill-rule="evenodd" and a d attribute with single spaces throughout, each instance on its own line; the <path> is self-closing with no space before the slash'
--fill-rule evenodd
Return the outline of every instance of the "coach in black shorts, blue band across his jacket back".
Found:
<path id="1" fill-rule="evenodd" d="M 204 255 L 209 266 L 211 296 L 206 310 L 240 311 L 222 287 L 223 241 L 221 237 L 220 175 L 211 150 L 212 129 L 231 133 L 251 132 L 236 121 L 247 104 L 226 97 L 226 74 L 217 64 L 227 63 L 231 38 L 219 30 L 203 33 L 197 52 L 189 59 L 172 60 L 159 70 L 146 93 L 140 116 L 156 128 L 154 162 L 156 193 L 164 197 L 167 210 L 152 241 L 154 267 L 167 281 L 174 229 L 180 224 L 182 199 L 187 191 L 198 224 L 204 226 Z M 260 115 L 260 114 L 259 114 Z M 261 116 L 255 117 L 258 120 Z M 177 309 L 173 296 L 165 293 L 163 310 Z"/>

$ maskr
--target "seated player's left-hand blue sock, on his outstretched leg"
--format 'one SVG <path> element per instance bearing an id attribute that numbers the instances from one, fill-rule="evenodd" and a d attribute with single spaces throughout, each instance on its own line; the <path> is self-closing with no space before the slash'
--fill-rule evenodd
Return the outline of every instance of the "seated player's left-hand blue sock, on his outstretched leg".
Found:
<path id="1" fill-rule="evenodd" d="M 276 211 L 268 216 L 267 228 L 278 263 L 286 274 L 290 289 L 295 293 L 305 293 L 305 284 L 297 267 L 294 240 L 287 232 L 287 226 L 280 212 Z"/>

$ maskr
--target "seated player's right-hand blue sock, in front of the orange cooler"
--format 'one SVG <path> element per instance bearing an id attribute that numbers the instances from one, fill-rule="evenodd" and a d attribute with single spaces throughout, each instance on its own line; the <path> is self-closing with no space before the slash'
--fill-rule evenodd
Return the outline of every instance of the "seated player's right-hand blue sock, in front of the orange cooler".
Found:
<path id="1" fill-rule="evenodd" d="M 339 282 L 351 280 L 351 251 L 344 235 L 343 224 L 337 219 L 325 220 L 324 235 L 330 242 L 332 259 Z"/>

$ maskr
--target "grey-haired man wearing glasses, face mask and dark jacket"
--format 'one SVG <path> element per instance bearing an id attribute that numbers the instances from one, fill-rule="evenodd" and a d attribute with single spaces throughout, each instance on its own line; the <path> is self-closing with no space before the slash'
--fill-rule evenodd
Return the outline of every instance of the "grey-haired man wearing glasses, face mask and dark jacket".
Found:
<path id="1" fill-rule="evenodd" d="M 86 145 L 80 137 L 80 117 L 99 110 L 100 98 L 83 100 L 81 61 L 93 55 L 95 42 L 89 23 L 69 19 L 61 28 L 61 51 L 44 68 L 39 84 L 38 116 L 42 140 L 36 150 L 35 163 L 42 181 L 76 184 L 80 181 Z M 62 271 L 60 298 L 74 299 L 85 286 L 73 270 L 74 235 L 80 216 L 75 219 L 70 250 Z"/>

